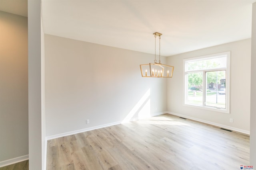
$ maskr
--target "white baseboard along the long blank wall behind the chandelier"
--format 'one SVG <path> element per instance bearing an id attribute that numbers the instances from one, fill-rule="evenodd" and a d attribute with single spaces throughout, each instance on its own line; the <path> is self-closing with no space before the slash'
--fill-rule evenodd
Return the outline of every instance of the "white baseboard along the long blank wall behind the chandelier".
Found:
<path id="1" fill-rule="evenodd" d="M 154 113 L 154 114 L 150 114 L 150 116 L 162 115 L 164 113 L 167 113 L 167 112 L 164 111 L 164 112 Z M 138 119 L 139 118 L 136 117 L 136 118 L 131 119 L 130 121 L 134 121 L 134 120 L 138 120 Z M 76 130 L 76 131 L 70 131 L 70 132 L 60 133 L 60 134 L 57 134 L 57 135 L 47 136 L 46 141 L 48 141 L 50 139 L 56 139 L 56 138 L 59 138 L 59 137 L 68 136 L 68 135 L 74 135 L 76 133 L 82 133 L 82 132 L 86 132 L 86 131 L 92 131 L 92 130 L 95 130 L 95 129 L 100 129 L 100 128 L 103 128 L 103 127 L 118 125 L 118 124 L 121 124 L 121 123 L 123 123 L 123 122 L 122 121 L 117 121 L 117 122 L 108 123 L 108 124 L 104 124 L 104 125 L 99 125 L 99 126 L 89 127 L 89 128 L 85 128 L 85 129 L 79 129 L 79 130 Z"/>

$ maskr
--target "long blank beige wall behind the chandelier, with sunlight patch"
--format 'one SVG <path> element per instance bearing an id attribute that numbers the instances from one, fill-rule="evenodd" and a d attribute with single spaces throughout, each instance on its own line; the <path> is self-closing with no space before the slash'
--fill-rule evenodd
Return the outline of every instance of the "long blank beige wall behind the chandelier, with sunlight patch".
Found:
<path id="1" fill-rule="evenodd" d="M 153 60 L 146 53 L 45 35 L 46 136 L 166 111 L 166 79 L 141 77 L 140 64 Z"/>

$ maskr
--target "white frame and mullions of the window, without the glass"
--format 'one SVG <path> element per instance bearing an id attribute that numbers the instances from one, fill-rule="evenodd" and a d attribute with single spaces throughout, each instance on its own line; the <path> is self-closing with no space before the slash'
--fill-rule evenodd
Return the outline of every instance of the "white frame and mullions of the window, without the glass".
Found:
<path id="1" fill-rule="evenodd" d="M 218 57 L 226 57 L 226 67 L 224 68 L 210 68 L 210 69 L 202 69 L 202 70 L 187 70 L 187 63 L 192 62 L 192 61 L 200 61 L 204 59 L 214 59 Z M 201 57 L 193 57 L 189 59 L 184 59 L 183 60 L 183 106 L 188 106 L 188 107 L 196 107 L 200 109 L 206 109 L 206 110 L 211 110 L 211 111 L 217 111 L 217 112 L 222 112 L 222 113 L 229 113 L 229 108 L 230 108 L 230 51 L 224 52 L 224 53 L 216 53 L 212 55 L 205 55 Z M 221 70 L 226 70 L 226 108 L 217 108 L 217 107 L 211 107 L 211 106 L 205 106 L 205 99 L 206 99 L 206 72 L 208 71 L 221 71 Z M 202 106 L 200 105 L 195 105 L 195 104 L 188 104 L 187 103 L 187 94 L 188 94 L 188 73 L 192 72 L 203 72 L 203 101 L 202 101 Z"/>

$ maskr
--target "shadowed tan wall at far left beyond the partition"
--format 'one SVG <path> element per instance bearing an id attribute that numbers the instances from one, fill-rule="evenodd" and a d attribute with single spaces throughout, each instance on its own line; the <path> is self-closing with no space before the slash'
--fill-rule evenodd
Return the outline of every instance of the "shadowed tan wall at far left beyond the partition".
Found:
<path id="1" fill-rule="evenodd" d="M 20 156 L 28 158 L 28 18 L 0 11 L 0 166 Z"/>

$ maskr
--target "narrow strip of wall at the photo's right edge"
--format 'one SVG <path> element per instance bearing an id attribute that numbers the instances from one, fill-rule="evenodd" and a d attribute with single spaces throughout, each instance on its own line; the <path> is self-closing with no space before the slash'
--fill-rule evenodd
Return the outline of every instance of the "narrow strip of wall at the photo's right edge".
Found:
<path id="1" fill-rule="evenodd" d="M 256 166 L 256 3 L 252 4 L 250 165 Z"/>

